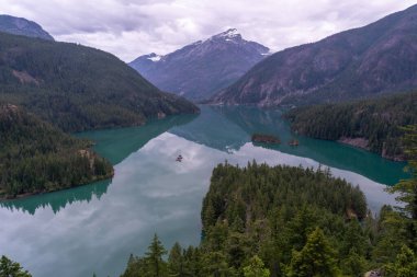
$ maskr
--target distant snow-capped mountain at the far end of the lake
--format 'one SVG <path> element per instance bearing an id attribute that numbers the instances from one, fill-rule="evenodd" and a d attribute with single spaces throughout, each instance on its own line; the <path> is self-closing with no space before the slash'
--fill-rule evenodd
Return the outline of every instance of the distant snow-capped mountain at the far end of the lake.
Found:
<path id="1" fill-rule="evenodd" d="M 269 48 L 230 28 L 165 56 L 140 56 L 129 66 L 159 89 L 199 101 L 235 82 L 267 55 Z"/>

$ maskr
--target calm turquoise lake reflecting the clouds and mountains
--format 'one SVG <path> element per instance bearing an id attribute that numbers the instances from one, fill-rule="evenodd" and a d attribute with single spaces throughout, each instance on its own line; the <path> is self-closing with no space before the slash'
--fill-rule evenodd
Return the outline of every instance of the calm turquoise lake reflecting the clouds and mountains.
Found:
<path id="1" fill-rule="evenodd" d="M 253 146 L 253 132 L 286 143 Z M 373 211 L 395 204 L 385 185 L 405 177 L 403 163 L 331 141 L 294 137 L 278 109 L 202 107 L 139 128 L 80 134 L 115 164 L 112 181 L 0 204 L 0 254 L 34 277 L 119 276 L 131 253 L 142 254 L 155 232 L 167 247 L 200 242 L 200 209 L 213 168 L 247 164 L 330 166 L 359 185 Z M 176 162 L 182 154 L 183 162 Z"/>

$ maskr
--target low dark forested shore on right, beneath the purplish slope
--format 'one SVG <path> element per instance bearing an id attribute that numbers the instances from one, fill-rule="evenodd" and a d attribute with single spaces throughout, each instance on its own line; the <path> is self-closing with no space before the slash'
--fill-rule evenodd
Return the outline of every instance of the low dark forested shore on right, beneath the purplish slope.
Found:
<path id="1" fill-rule="evenodd" d="M 288 112 L 292 129 L 340 140 L 384 158 L 404 160 L 398 126 L 417 124 L 417 92 L 360 102 L 297 107 Z"/>

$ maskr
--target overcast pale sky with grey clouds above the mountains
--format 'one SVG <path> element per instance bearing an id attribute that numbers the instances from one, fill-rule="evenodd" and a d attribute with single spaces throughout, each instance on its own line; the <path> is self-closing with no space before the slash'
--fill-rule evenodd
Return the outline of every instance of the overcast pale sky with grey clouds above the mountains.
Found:
<path id="1" fill-rule="evenodd" d="M 0 13 L 40 23 L 57 41 L 125 61 L 167 54 L 236 27 L 272 50 L 312 43 L 404 10 L 416 0 L 0 0 Z"/>

